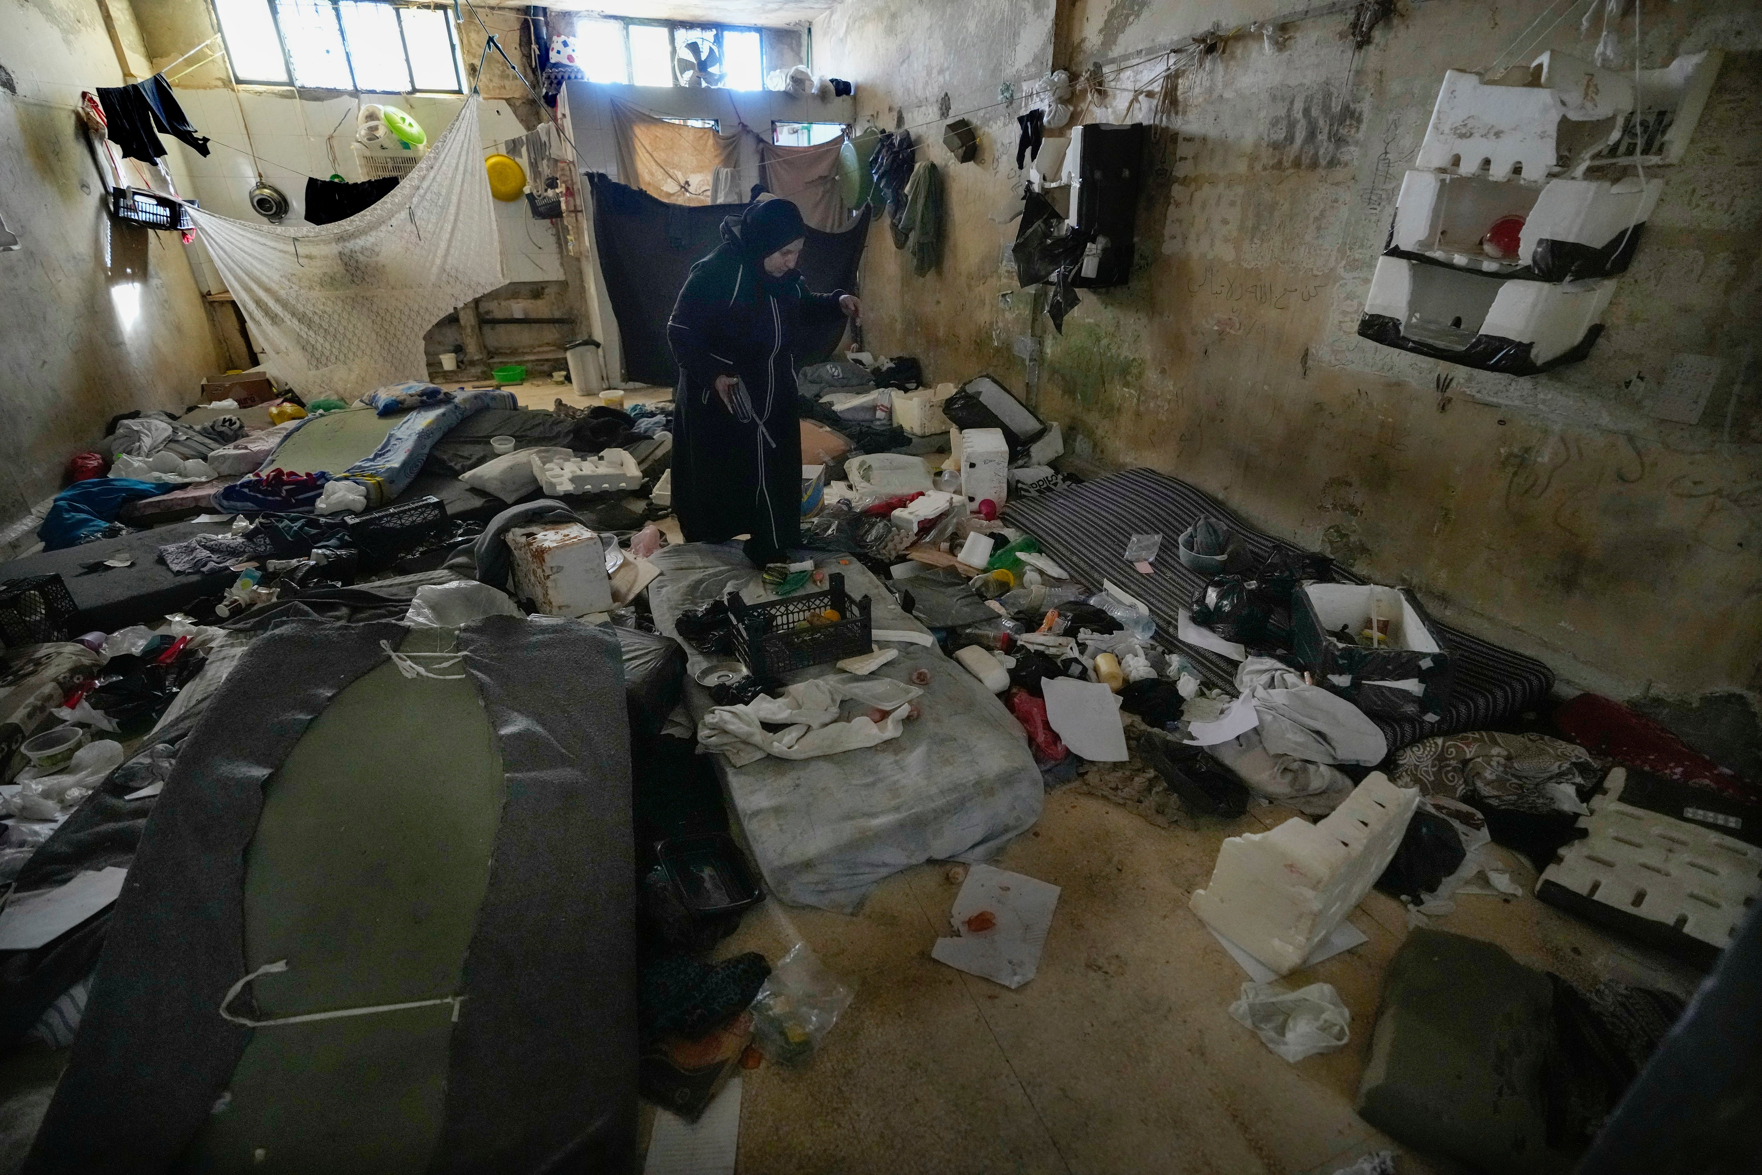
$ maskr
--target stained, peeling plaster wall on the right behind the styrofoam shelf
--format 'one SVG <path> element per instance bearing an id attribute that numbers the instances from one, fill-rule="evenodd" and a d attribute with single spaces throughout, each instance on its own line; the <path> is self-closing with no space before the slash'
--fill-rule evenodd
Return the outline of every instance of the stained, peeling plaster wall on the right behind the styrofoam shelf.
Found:
<path id="1" fill-rule="evenodd" d="M 962 12 L 983 28 L 1020 7 Z M 1075 0 L 1054 25 L 1077 72 L 1279 7 Z M 990 370 L 1078 451 L 1193 481 L 1570 682 L 1762 687 L 1762 12 L 1646 0 L 1646 65 L 1704 48 L 1727 60 L 1588 361 L 1494 377 L 1355 335 L 1443 72 L 1487 67 L 1544 7 L 1415 2 L 1362 51 L 1346 14 L 1284 26 L 1283 48 L 1232 39 L 1182 76 L 1145 160 L 1133 282 L 1082 291 L 1062 336 L 1015 287 L 1013 225 L 987 218 L 1017 176 L 1015 111 L 974 116 L 976 164 L 939 143 L 923 155 L 950 176 L 941 271 L 913 278 L 883 233 L 870 243 L 870 349 L 918 354 L 937 381 Z M 849 0 L 816 21 L 819 72 L 853 79 L 883 127 L 944 88 L 937 76 L 996 102 L 999 81 L 1033 74 L 1001 44 L 923 21 L 922 5 Z M 1610 26 L 1632 67 L 1632 18 Z M 1589 56 L 1600 32 L 1581 41 L 1563 23 L 1535 53 Z M 1080 120 L 1151 122 L 1154 95 L 1126 107 L 1154 63 L 1107 69 L 1112 95 Z M 957 95 L 953 111 L 978 104 Z M 1017 358 L 1025 336 L 1041 338 L 1038 370 Z M 1718 359 L 1699 425 L 1649 412 L 1679 354 Z"/>

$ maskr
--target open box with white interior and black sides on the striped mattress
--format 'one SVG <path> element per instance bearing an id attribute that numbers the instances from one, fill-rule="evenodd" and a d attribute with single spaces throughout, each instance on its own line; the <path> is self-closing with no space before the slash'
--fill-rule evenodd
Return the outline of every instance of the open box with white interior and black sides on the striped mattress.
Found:
<path id="1" fill-rule="evenodd" d="M 1373 604 L 1388 629 L 1380 648 L 1357 643 L 1371 627 Z M 1341 627 L 1351 639 L 1341 639 Z M 1366 713 L 1441 715 L 1450 703 L 1450 650 L 1406 588 L 1304 583 L 1292 592 L 1292 648 L 1316 685 Z"/>

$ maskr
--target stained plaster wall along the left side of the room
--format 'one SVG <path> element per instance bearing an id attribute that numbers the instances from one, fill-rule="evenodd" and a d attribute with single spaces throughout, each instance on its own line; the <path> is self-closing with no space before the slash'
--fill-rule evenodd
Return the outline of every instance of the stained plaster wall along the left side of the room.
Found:
<path id="1" fill-rule="evenodd" d="M 144 62 L 132 18 L 115 26 Z M 81 90 L 123 81 L 97 2 L 0 0 L 0 217 L 21 238 L 0 252 L 7 523 L 60 488 L 111 416 L 196 402 L 222 356 L 178 236 L 113 229 L 104 211 L 74 115 Z"/>

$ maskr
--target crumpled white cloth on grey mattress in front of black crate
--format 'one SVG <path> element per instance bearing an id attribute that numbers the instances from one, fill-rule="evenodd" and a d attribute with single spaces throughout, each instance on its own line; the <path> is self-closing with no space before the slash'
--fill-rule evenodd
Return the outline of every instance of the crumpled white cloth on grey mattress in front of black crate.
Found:
<path id="1" fill-rule="evenodd" d="M 744 706 L 715 706 L 698 722 L 698 745 L 721 750 L 735 766 L 745 766 L 766 754 L 779 759 L 814 759 L 858 747 L 874 747 L 899 738 L 911 701 L 923 691 L 886 676 L 833 673 L 789 685 L 781 698 L 759 694 Z M 844 701 L 888 712 L 885 722 L 856 717 L 839 721 Z M 772 735 L 763 722 L 788 722 Z"/>

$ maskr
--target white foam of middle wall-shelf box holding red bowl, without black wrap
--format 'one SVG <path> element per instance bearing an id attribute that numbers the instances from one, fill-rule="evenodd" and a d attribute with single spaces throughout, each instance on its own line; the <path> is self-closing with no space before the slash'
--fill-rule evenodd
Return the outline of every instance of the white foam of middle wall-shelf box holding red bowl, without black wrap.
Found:
<path id="1" fill-rule="evenodd" d="M 1531 264 L 1542 241 L 1602 248 L 1630 225 L 1644 224 L 1663 180 L 1549 180 L 1542 185 L 1408 171 L 1396 201 L 1392 243 L 1445 264 L 1510 273 Z M 1491 257 L 1482 238 L 1501 217 L 1522 217 L 1515 257 Z"/>

